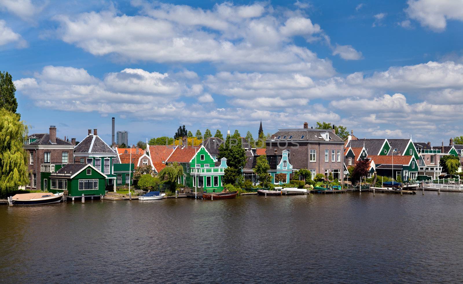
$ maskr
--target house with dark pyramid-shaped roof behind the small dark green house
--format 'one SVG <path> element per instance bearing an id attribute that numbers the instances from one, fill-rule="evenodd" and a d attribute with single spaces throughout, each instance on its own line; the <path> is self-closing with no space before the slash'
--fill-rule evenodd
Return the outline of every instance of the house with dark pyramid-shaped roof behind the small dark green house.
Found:
<path id="1" fill-rule="evenodd" d="M 97 134 L 88 130 L 88 135 L 74 148 L 75 163 L 90 164 L 106 176 L 106 190 L 116 189 L 114 164 L 119 164 L 118 153 Z"/>

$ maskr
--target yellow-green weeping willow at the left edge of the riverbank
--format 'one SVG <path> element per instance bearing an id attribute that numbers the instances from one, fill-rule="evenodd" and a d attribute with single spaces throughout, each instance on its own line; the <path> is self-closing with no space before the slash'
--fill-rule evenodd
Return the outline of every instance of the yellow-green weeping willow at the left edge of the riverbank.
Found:
<path id="1" fill-rule="evenodd" d="M 17 190 L 29 183 L 26 151 L 27 126 L 19 114 L 0 109 L 0 191 Z"/>

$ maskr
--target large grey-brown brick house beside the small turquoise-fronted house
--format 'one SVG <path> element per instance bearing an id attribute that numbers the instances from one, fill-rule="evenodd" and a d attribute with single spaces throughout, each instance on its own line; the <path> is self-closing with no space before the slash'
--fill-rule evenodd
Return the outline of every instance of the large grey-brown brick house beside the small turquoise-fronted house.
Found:
<path id="1" fill-rule="evenodd" d="M 279 129 L 265 142 L 270 168 L 279 165 L 283 150 L 288 150 L 293 171 L 306 168 L 312 178 L 322 173 L 343 180 L 344 141 L 334 131 L 308 128 L 307 122 L 300 129 Z"/>

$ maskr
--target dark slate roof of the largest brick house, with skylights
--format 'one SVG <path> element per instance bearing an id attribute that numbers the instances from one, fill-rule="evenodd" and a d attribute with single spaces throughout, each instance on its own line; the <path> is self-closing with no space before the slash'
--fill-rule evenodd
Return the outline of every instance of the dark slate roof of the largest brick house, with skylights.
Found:
<path id="1" fill-rule="evenodd" d="M 330 142 L 344 142 L 339 136 L 334 134 L 331 130 L 325 129 L 305 129 L 305 128 L 296 128 L 296 129 L 279 129 L 274 135 L 272 135 L 272 141 L 314 141 L 320 142 L 325 141 L 321 136 L 322 134 L 328 132 L 330 134 Z M 278 136 L 281 136 L 280 139 L 277 139 Z M 286 136 L 286 139 L 283 139 L 283 136 Z M 291 140 L 289 136 L 293 136 Z M 301 136 L 304 136 L 301 139 Z"/>

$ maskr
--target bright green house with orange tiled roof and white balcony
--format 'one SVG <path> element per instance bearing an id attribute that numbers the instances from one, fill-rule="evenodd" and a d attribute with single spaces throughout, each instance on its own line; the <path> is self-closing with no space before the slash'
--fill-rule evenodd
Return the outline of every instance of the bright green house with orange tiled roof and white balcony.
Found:
<path id="1" fill-rule="evenodd" d="M 183 177 L 179 183 L 204 192 L 221 192 L 224 187 L 222 178 L 227 168 L 222 158 L 216 166 L 213 155 L 204 146 L 178 146 L 169 156 L 166 164 L 178 162 L 183 167 Z"/>

